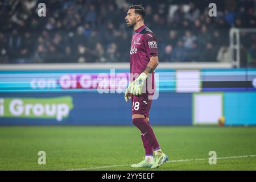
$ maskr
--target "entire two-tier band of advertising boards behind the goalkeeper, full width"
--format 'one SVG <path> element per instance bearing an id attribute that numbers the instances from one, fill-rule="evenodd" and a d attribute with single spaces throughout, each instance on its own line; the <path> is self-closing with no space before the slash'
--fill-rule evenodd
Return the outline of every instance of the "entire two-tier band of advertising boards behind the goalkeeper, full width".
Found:
<path id="1" fill-rule="evenodd" d="M 1 71 L 0 125 L 131 125 L 131 104 L 123 98 L 129 77 L 128 69 Z M 192 125 L 215 97 L 197 98 L 195 109 L 193 93 L 214 92 L 223 93 L 215 115 L 196 115 L 198 121 L 256 125 L 256 69 L 158 69 L 155 82 L 152 125 Z"/>

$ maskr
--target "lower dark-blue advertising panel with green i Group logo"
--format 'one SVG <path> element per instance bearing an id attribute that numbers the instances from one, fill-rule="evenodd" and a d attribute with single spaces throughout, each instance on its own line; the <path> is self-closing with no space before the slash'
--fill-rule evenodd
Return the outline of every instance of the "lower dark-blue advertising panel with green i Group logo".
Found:
<path id="1" fill-rule="evenodd" d="M 152 125 L 191 125 L 191 94 L 162 93 L 152 101 Z M 0 125 L 132 125 L 123 94 L 25 93 L 0 97 Z"/>

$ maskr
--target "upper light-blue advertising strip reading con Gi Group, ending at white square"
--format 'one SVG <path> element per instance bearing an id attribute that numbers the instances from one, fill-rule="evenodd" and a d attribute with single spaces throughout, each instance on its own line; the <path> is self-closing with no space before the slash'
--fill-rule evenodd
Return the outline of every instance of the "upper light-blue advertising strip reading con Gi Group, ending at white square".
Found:
<path id="1" fill-rule="evenodd" d="M 1 71 L 0 93 L 97 93 L 102 86 L 109 90 L 123 90 L 127 88 L 129 78 L 126 69 Z M 175 92 L 175 70 L 155 72 L 155 81 L 160 92 Z"/>

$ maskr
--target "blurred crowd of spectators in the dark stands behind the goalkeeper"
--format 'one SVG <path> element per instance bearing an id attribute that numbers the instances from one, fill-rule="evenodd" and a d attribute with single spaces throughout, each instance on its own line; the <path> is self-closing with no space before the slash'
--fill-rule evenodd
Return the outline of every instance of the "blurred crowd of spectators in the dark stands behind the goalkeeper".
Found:
<path id="1" fill-rule="evenodd" d="M 38 3 L 46 3 L 39 17 Z M 0 63 L 128 62 L 133 31 L 128 7 L 142 4 L 158 39 L 159 61 L 230 61 L 229 28 L 256 27 L 256 0 L 0 1 Z M 216 1 L 215 1 L 216 2 Z M 255 34 L 242 35 L 243 61 L 256 60 Z"/>

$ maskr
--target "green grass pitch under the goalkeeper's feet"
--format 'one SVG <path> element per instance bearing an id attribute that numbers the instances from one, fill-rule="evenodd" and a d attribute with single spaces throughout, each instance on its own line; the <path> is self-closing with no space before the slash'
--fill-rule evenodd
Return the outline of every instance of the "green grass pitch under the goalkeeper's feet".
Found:
<path id="1" fill-rule="evenodd" d="M 135 126 L 2 126 L 0 170 L 256 170 L 256 127 L 153 129 L 171 162 L 135 169 L 130 164 L 144 155 Z M 217 152 L 216 165 L 208 163 L 209 151 Z"/>

